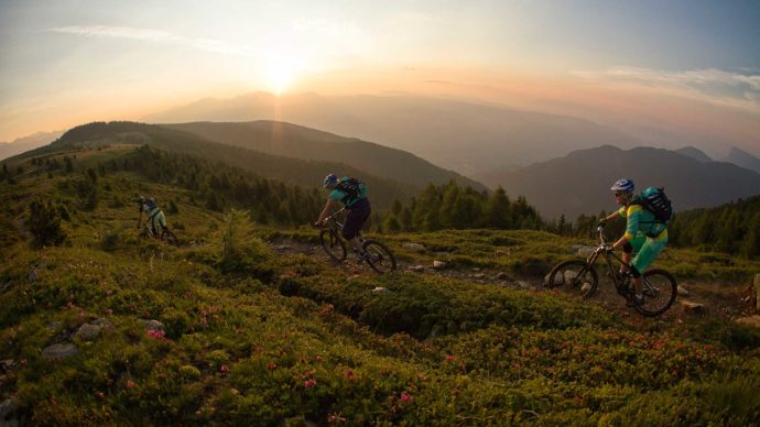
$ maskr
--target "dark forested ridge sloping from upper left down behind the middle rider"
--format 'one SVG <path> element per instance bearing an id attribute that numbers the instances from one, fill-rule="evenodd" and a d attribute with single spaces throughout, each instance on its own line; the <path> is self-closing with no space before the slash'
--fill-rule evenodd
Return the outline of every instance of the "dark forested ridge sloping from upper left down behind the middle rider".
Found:
<path id="1" fill-rule="evenodd" d="M 306 161 L 260 153 L 229 144 L 220 144 L 174 129 L 134 122 L 96 122 L 76 127 L 48 146 L 23 154 L 31 157 L 55 153 L 70 147 L 104 146 L 109 144 L 149 144 L 165 151 L 185 153 L 239 167 L 265 178 L 297 184 L 305 188 L 319 187 L 324 176 L 336 171 L 359 176 L 371 188 L 371 197 L 380 208 L 394 199 L 411 198 L 419 188 L 412 184 L 373 176 L 354 166 L 337 162 Z"/>

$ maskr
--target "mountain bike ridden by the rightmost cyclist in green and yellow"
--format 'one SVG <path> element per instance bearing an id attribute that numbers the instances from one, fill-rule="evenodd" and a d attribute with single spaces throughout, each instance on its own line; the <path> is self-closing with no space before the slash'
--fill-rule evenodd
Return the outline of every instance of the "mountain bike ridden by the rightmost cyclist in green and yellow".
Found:
<path id="1" fill-rule="evenodd" d="M 546 276 L 544 286 L 562 287 L 568 293 L 579 295 L 583 299 L 588 299 L 599 286 L 599 276 L 594 264 L 601 258 L 609 269 L 608 276 L 615 284 L 615 289 L 626 299 L 634 302 L 633 280 L 628 275 L 621 276 L 615 267 L 614 261 L 628 264 L 615 253 L 605 238 L 604 230 L 604 226 L 597 228 L 599 244 L 586 261 L 568 260 L 556 264 Z M 641 294 L 644 296 L 644 300 L 641 304 L 633 303 L 633 307 L 644 316 L 660 316 L 671 308 L 675 302 L 677 289 L 675 278 L 669 272 L 661 269 L 648 270 L 642 274 L 641 281 Z"/>

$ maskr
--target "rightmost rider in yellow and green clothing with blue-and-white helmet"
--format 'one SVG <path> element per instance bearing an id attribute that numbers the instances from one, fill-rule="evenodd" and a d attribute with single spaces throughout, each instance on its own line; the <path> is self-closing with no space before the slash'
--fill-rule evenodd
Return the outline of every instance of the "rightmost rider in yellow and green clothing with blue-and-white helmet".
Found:
<path id="1" fill-rule="evenodd" d="M 615 199 L 621 207 L 618 211 L 600 219 L 599 225 L 604 226 L 618 217 L 627 219 L 626 233 L 612 244 L 611 249 L 622 247 L 622 260 L 626 265 L 620 267 L 620 275 L 629 274 L 633 277 L 636 288 L 633 303 L 641 305 L 644 300 L 641 294 L 641 274 L 652 265 L 667 244 L 667 226 L 658 220 L 654 214 L 644 209 L 638 197 L 633 196 L 633 180 L 620 178 L 610 189 L 615 191 Z M 636 256 L 631 261 L 633 252 Z"/>

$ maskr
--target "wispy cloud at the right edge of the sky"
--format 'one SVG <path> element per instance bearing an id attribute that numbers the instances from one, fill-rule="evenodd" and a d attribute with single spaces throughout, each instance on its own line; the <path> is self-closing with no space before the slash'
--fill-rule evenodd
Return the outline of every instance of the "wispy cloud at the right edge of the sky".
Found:
<path id="1" fill-rule="evenodd" d="M 638 67 L 614 67 L 602 72 L 571 72 L 584 79 L 625 81 L 676 89 L 692 97 L 760 110 L 760 75 L 707 68 L 660 72 Z"/>

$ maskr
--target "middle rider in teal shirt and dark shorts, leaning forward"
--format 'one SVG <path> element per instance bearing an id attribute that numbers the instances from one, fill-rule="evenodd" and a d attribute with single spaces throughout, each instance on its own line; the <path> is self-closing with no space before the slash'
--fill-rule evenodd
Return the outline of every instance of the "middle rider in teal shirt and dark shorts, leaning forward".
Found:
<path id="1" fill-rule="evenodd" d="M 327 204 L 319 214 L 319 219 L 315 226 L 324 226 L 326 218 L 335 210 L 337 205 L 343 204 L 348 209 L 346 222 L 343 226 L 343 237 L 348 240 L 354 248 L 354 251 L 359 254 L 359 259 L 368 258 L 368 254 L 361 248 L 359 241 L 359 230 L 361 226 L 369 219 L 371 207 L 367 198 L 367 186 L 359 183 L 355 178 L 344 176 L 338 178 L 335 174 L 328 174 L 322 183 L 322 186 L 329 190 Z"/>

